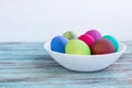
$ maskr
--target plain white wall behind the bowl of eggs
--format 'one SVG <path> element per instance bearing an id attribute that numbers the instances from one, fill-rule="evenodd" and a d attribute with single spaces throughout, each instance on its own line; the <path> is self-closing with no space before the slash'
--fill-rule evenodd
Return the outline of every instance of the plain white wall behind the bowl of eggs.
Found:
<path id="1" fill-rule="evenodd" d="M 132 0 L 0 0 L 0 42 L 43 42 L 90 29 L 132 40 Z"/>

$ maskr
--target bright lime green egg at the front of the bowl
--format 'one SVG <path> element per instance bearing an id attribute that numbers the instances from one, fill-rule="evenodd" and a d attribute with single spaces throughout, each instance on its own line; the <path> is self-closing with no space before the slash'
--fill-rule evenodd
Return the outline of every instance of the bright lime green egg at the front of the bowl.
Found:
<path id="1" fill-rule="evenodd" d="M 80 40 L 70 40 L 65 47 L 66 54 L 90 55 L 89 46 Z"/>

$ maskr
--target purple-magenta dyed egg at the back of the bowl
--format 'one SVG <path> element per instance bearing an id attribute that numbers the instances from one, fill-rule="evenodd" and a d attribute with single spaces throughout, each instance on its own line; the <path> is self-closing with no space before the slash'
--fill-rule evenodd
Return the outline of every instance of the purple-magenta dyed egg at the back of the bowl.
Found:
<path id="1" fill-rule="evenodd" d="M 90 30 L 90 31 L 86 32 L 85 34 L 91 35 L 96 41 L 101 38 L 101 33 L 97 30 Z"/>

